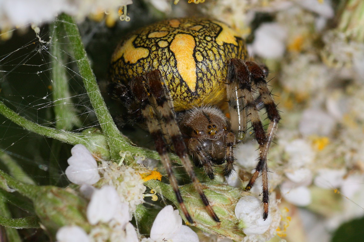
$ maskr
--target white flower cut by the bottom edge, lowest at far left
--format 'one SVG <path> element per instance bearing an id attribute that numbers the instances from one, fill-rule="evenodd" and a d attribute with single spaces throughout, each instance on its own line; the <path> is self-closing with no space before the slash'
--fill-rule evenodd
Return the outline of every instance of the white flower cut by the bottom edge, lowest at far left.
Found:
<path id="1" fill-rule="evenodd" d="M 89 242 L 86 232 L 79 226 L 64 226 L 57 231 L 58 242 Z"/>

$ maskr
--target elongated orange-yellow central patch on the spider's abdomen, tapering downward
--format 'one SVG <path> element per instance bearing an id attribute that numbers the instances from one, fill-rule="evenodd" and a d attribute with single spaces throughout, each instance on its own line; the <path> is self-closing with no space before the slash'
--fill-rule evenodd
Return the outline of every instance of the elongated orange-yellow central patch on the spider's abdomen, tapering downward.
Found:
<path id="1" fill-rule="evenodd" d="M 195 91 L 197 81 L 196 62 L 193 58 L 194 48 L 195 40 L 189 34 L 176 34 L 170 45 L 170 50 L 177 61 L 178 73 L 191 91 Z"/>

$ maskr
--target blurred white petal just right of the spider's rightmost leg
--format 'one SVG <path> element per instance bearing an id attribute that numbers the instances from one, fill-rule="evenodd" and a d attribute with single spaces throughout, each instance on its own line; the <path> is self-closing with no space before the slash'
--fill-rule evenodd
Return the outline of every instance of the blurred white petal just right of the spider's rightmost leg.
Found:
<path id="1" fill-rule="evenodd" d="M 312 202 L 311 192 L 307 186 L 285 181 L 282 183 L 280 189 L 284 199 L 294 205 L 307 206 Z"/>

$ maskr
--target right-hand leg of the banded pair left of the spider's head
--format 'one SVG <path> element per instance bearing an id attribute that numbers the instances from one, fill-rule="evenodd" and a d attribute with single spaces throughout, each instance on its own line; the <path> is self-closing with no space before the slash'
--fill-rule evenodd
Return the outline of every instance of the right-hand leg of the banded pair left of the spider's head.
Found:
<path id="1" fill-rule="evenodd" d="M 146 75 L 146 78 L 149 83 L 148 87 L 150 91 L 151 102 L 156 105 L 157 112 L 159 112 L 159 114 L 162 116 L 162 126 L 165 127 L 167 135 L 171 138 L 171 143 L 174 146 L 175 153 L 178 155 L 179 159 L 181 159 L 183 167 L 190 176 L 194 187 L 201 197 L 201 200 L 210 216 L 216 222 L 220 222 L 219 218 L 212 209 L 209 200 L 207 200 L 205 193 L 203 193 L 202 185 L 193 171 L 193 165 L 190 161 L 186 144 L 183 141 L 183 136 L 179 130 L 175 114 L 173 112 L 173 107 L 171 107 L 171 102 L 169 101 L 161 72 L 159 70 L 151 71 Z"/>

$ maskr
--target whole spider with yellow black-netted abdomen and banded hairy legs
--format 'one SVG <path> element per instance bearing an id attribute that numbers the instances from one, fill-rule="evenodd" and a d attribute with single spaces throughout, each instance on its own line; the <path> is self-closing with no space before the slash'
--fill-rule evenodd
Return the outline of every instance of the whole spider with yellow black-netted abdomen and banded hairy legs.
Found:
<path id="1" fill-rule="evenodd" d="M 169 145 L 181 159 L 207 212 L 219 222 L 194 173 L 190 156 L 211 180 L 217 164 L 224 165 L 223 175 L 231 175 L 234 147 L 244 139 L 248 119 L 260 156 L 245 189 L 250 190 L 262 173 L 262 217 L 268 217 L 266 160 L 280 115 L 267 86 L 267 69 L 244 61 L 246 56 L 245 41 L 234 30 L 223 22 L 203 18 L 171 19 L 136 30 L 112 56 L 111 95 L 127 108 L 127 119 L 149 130 L 179 206 L 190 223 L 193 220 L 178 189 Z M 270 120 L 267 132 L 260 120 L 252 83 Z"/>

